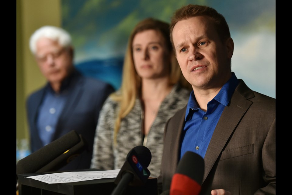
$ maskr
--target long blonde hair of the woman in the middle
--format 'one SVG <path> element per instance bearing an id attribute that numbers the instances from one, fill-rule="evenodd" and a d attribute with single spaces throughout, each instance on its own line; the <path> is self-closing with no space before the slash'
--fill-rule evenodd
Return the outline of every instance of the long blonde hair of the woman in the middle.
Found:
<path id="1" fill-rule="evenodd" d="M 144 30 L 156 30 L 158 33 L 161 33 L 162 37 L 165 39 L 167 49 L 170 53 L 169 57 L 171 58 L 171 64 L 169 66 L 169 84 L 173 85 L 179 82 L 182 87 L 186 87 L 191 90 L 191 85 L 182 76 L 181 69 L 179 68 L 172 49 L 172 44 L 169 37 L 169 24 L 153 18 L 147 18 L 139 22 L 132 30 L 128 40 L 120 90 L 111 94 L 111 98 L 120 103 L 120 110 L 118 111 L 115 122 L 114 143 L 116 143 L 116 136 L 120 129 L 121 120 L 132 110 L 136 98 L 141 93 L 141 77 L 138 76 L 134 66 L 132 44 L 135 35 Z"/>

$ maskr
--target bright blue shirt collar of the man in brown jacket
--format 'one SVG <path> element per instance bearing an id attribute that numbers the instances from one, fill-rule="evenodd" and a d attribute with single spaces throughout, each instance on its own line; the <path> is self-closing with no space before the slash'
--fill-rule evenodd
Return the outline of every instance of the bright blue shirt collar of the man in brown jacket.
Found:
<path id="1" fill-rule="evenodd" d="M 231 78 L 223 85 L 221 90 L 213 99 L 223 104 L 224 106 L 227 106 L 238 83 L 239 81 L 237 77 L 235 76 L 235 73 L 232 72 Z M 186 107 L 185 121 L 187 121 L 188 115 L 191 109 L 192 110 L 199 109 L 196 103 L 194 91 L 192 91 L 191 94 L 189 95 L 189 101 Z"/>

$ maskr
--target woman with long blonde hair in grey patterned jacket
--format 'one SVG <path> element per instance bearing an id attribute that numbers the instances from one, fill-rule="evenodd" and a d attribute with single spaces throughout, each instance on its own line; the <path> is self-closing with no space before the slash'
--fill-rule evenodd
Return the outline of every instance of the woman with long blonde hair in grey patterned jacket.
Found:
<path id="1" fill-rule="evenodd" d="M 158 177 L 165 123 L 187 104 L 190 89 L 173 52 L 169 24 L 142 20 L 128 41 L 121 88 L 100 112 L 91 168 L 121 168 L 128 152 L 144 145 L 152 155 L 150 176 Z"/>

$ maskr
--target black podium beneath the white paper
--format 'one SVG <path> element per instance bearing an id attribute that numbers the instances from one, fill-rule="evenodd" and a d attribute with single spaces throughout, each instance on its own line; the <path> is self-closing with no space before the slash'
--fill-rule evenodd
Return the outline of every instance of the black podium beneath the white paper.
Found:
<path id="1" fill-rule="evenodd" d="M 19 195 L 110 195 L 116 187 L 116 184 L 114 183 L 116 178 L 54 184 L 48 184 L 35 179 L 26 178 L 29 176 L 49 173 L 54 172 L 19 174 Z M 157 195 L 157 178 L 149 178 L 144 186 L 128 186 L 125 194 Z"/>

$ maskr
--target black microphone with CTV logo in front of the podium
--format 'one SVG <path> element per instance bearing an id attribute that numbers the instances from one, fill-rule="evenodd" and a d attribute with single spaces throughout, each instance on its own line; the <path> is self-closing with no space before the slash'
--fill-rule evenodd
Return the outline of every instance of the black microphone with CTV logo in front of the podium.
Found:
<path id="1" fill-rule="evenodd" d="M 116 188 L 111 195 L 123 194 L 127 186 L 143 186 L 150 171 L 147 169 L 152 155 L 145 146 L 136 146 L 127 154 L 126 161 L 115 179 Z"/>

